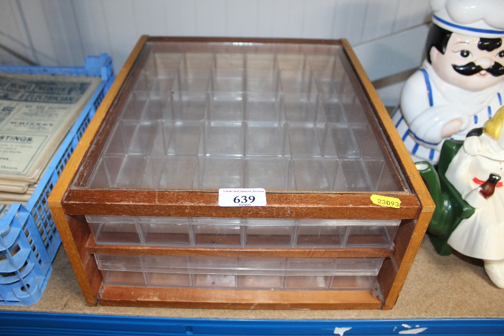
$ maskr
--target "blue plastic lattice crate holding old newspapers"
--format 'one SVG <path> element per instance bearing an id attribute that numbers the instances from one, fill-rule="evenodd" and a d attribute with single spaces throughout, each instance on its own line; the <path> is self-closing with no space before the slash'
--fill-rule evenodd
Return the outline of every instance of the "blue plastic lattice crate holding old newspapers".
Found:
<path id="1" fill-rule="evenodd" d="M 52 272 L 51 262 L 61 244 L 47 198 L 110 88 L 114 74 L 112 59 L 107 54 L 88 56 L 83 68 L 0 65 L 0 72 L 101 77 L 101 83 L 54 154 L 26 207 L 13 204 L 0 218 L 0 305 L 28 306 L 42 296 Z"/>

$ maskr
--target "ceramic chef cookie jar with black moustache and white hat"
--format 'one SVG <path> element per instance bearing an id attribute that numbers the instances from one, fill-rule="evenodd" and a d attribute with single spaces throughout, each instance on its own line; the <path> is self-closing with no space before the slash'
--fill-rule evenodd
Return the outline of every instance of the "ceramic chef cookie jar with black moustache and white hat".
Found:
<path id="1" fill-rule="evenodd" d="M 464 140 L 504 99 L 504 1 L 430 0 L 425 60 L 393 121 L 413 161 L 436 164 L 446 139 Z"/>

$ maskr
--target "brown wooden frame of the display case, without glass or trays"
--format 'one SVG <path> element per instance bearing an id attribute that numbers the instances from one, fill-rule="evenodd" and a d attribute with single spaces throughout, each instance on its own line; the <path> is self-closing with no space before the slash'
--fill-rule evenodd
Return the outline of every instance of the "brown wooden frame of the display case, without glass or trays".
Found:
<path id="1" fill-rule="evenodd" d="M 143 189 L 72 189 L 85 158 L 99 155 L 92 148 L 95 138 L 104 137 L 111 125 L 105 121 L 123 89 L 134 63 L 146 42 L 261 42 L 341 45 L 351 71 L 363 88 L 377 124 L 391 152 L 397 158 L 398 174 L 404 176 L 407 191 L 380 192 L 401 199 L 399 209 L 371 203 L 371 192 L 268 193 L 266 207 L 222 208 L 218 193 L 207 191 L 170 191 Z M 375 131 L 376 131 L 375 130 Z M 403 183 L 403 182 L 401 182 Z M 86 303 L 95 305 L 231 308 L 231 309 L 390 309 L 394 306 L 411 263 L 428 226 L 434 204 L 415 165 L 346 40 L 293 40 L 242 38 L 186 38 L 142 36 L 133 49 L 96 115 L 84 133 L 64 172 L 51 193 L 48 204 Z M 266 210 L 266 211 L 265 211 Z M 84 215 L 181 216 L 228 218 L 388 218 L 401 219 L 394 248 L 196 248 L 97 245 Z M 371 217 L 372 216 L 372 217 Z M 262 291 L 110 286 L 103 283 L 94 253 L 207 256 L 281 256 L 281 257 L 386 257 L 377 277 L 377 286 L 369 291 Z"/>

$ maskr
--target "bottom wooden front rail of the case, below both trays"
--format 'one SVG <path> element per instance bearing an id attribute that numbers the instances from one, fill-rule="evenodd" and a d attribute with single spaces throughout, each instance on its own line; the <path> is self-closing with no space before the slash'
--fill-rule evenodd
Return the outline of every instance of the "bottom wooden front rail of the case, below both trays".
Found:
<path id="1" fill-rule="evenodd" d="M 211 309 L 377 309 L 371 291 L 261 291 L 104 285 L 100 304 Z"/>

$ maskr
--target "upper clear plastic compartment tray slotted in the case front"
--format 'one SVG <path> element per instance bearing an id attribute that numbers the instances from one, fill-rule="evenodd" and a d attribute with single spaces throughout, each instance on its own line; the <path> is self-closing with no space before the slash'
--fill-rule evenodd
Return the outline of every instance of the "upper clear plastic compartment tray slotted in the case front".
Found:
<path id="1" fill-rule="evenodd" d="M 390 248 L 400 220 L 90 216 L 97 244 Z"/>

